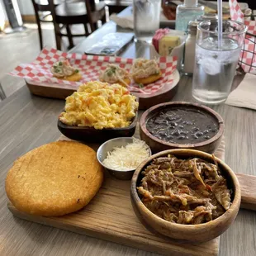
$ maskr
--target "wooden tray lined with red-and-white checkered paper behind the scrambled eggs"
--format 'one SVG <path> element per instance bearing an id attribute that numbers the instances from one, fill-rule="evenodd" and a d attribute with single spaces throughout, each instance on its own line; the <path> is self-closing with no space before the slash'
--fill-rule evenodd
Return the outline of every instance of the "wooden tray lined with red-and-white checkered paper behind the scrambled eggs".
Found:
<path id="1" fill-rule="evenodd" d="M 139 62 L 150 65 L 154 63 L 158 70 L 154 69 L 155 73 L 147 74 L 144 78 L 158 76 L 157 79 L 135 83 L 135 81 L 139 81 L 138 78 L 141 80 L 141 75 L 145 75 L 146 70 L 148 70 L 139 68 L 135 72 L 135 64 Z M 59 69 L 61 69 L 60 73 L 62 74 L 64 63 L 69 64 L 69 69 L 80 74 L 81 79 L 79 81 L 68 81 L 65 77 L 59 77 Z M 140 109 L 143 109 L 152 106 L 155 102 L 169 101 L 173 97 L 179 80 L 176 69 L 177 63 L 176 56 L 161 56 L 158 59 L 126 59 L 116 56 L 69 54 L 45 47 L 34 62 L 20 64 L 9 74 L 25 78 L 27 87 L 33 94 L 64 99 L 75 92 L 79 85 L 101 80 L 102 73 L 106 73 L 108 66 L 116 66 L 125 70 L 130 76 L 130 83 L 127 83 L 126 86 L 130 92 L 135 93 L 139 101 L 141 98 Z M 52 70 L 57 70 L 58 76 Z M 149 70 L 151 70 L 151 66 Z M 109 74 L 107 73 L 107 75 Z"/>

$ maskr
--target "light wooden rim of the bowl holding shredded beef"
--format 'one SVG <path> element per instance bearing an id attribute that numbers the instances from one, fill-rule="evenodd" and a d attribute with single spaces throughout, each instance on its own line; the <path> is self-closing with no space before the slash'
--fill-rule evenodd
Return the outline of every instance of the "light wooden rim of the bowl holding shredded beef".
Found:
<path id="1" fill-rule="evenodd" d="M 164 220 L 160 218 L 159 216 L 155 215 L 152 211 L 149 211 L 149 209 L 143 204 L 143 202 L 140 200 L 140 197 L 137 192 L 136 188 L 136 183 L 139 178 L 140 172 L 145 168 L 145 165 L 148 165 L 149 162 L 151 162 L 155 158 L 159 158 L 161 156 L 167 155 L 167 154 L 173 154 L 173 155 L 179 155 L 179 154 L 191 154 L 190 157 L 202 157 L 202 159 L 211 159 L 211 154 L 195 150 L 195 149 L 168 149 L 161 151 L 157 154 L 153 154 L 149 159 L 146 159 L 144 162 L 140 164 L 138 168 L 136 168 L 135 173 L 133 174 L 133 177 L 131 178 L 131 184 L 130 184 L 130 191 L 135 197 L 135 204 L 140 207 L 142 211 L 145 211 L 145 213 L 153 218 L 159 225 L 168 225 L 170 228 L 172 227 L 175 229 L 175 231 L 190 231 L 194 230 L 195 227 L 197 230 L 205 230 L 207 228 L 212 228 L 213 226 L 219 225 L 223 220 L 228 220 L 232 216 L 232 212 L 236 210 L 237 207 L 240 205 L 241 201 L 241 191 L 240 191 L 240 185 L 238 178 L 235 176 L 235 173 L 232 171 L 232 169 L 225 164 L 223 161 L 220 159 L 216 158 L 216 161 L 218 164 L 220 164 L 221 168 L 225 168 L 225 173 L 228 173 L 230 178 L 232 179 L 232 182 L 234 183 L 234 192 L 235 192 L 235 197 L 232 201 L 232 204 L 230 206 L 230 209 L 225 211 L 224 214 L 221 216 L 217 217 L 215 220 L 208 221 L 206 223 L 201 223 L 201 224 L 190 224 L 190 225 L 184 225 L 184 224 L 178 224 L 178 223 L 173 223 L 169 222 L 168 220 Z"/>

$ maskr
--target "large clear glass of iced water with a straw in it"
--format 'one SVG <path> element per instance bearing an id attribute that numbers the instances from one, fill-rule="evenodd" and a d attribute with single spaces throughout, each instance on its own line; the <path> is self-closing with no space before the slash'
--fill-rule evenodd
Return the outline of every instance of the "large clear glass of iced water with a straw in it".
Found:
<path id="1" fill-rule="evenodd" d="M 225 102 L 228 97 L 247 31 L 240 22 L 224 21 L 218 45 L 217 27 L 218 21 L 201 21 L 197 26 L 192 96 L 208 104 Z"/>

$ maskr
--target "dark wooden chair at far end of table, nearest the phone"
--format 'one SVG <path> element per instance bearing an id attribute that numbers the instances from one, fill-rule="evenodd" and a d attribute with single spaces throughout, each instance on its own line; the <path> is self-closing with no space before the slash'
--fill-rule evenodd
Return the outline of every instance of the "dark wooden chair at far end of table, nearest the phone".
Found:
<path id="1" fill-rule="evenodd" d="M 58 50 L 61 49 L 62 36 L 68 37 L 69 48 L 72 48 L 74 36 L 88 36 L 96 30 L 97 21 L 106 22 L 106 4 L 104 2 L 95 3 L 94 0 L 80 0 L 79 2 L 64 2 L 57 7 L 54 2 L 50 1 L 49 3 L 55 26 L 55 39 Z M 65 26 L 65 34 L 61 31 L 60 24 Z M 70 26 L 74 24 L 83 24 L 85 33 L 73 35 Z M 90 31 L 88 31 L 88 25 Z"/>

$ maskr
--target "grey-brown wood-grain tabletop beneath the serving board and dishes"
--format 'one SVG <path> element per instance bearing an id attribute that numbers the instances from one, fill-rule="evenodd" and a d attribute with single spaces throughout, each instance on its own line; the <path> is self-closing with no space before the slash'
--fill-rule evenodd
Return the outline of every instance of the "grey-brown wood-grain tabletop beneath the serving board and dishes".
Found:
<path id="1" fill-rule="evenodd" d="M 93 40 L 116 31 L 109 22 L 73 52 L 83 52 Z M 132 43 L 122 56 L 149 57 L 149 49 Z M 173 101 L 192 101 L 192 78 L 180 80 Z M 59 138 L 57 116 L 64 101 L 32 96 L 24 86 L 0 102 L 0 255 L 156 255 L 120 244 L 38 225 L 12 216 L 7 210 L 4 181 L 21 154 Z M 225 121 L 225 162 L 236 173 L 256 175 L 256 111 L 224 104 L 212 107 Z M 220 238 L 221 256 L 256 255 L 256 213 L 240 210 L 235 223 Z"/>

